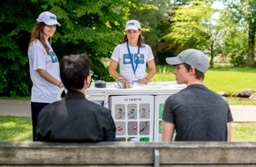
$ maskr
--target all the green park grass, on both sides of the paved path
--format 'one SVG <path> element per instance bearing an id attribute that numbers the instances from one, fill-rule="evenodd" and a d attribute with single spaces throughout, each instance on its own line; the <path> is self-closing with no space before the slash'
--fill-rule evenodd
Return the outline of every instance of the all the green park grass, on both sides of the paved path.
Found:
<path id="1" fill-rule="evenodd" d="M 157 74 L 152 79 L 153 82 L 175 81 L 173 75 L 174 67 L 157 66 Z M 252 89 L 256 91 L 256 69 L 247 68 L 215 68 L 208 69 L 206 73 L 206 86 L 215 91 L 225 91 L 234 95 L 242 89 Z M 30 99 L 25 98 L 0 98 L 0 99 Z M 229 98 L 230 105 L 256 105 L 256 101 L 245 99 Z M 256 111 L 255 111 L 256 112 Z M 21 142 L 32 141 L 31 118 L 0 116 L 0 141 L 1 142 Z M 256 123 L 233 123 L 233 142 L 256 142 Z"/>

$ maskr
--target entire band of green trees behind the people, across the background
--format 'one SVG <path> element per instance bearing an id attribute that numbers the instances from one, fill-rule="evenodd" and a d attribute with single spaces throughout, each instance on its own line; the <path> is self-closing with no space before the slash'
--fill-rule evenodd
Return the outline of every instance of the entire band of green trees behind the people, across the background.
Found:
<path id="1" fill-rule="evenodd" d="M 233 66 L 254 67 L 255 9 L 251 1 L 169 0 L 2 0 L 0 4 L 0 96 L 29 96 L 32 82 L 27 57 L 30 33 L 42 11 L 52 11 L 58 22 L 52 46 L 59 60 L 87 52 L 94 79 L 113 81 L 101 62 L 110 57 L 124 36 L 128 19 L 138 19 L 157 63 L 194 47 L 210 55 L 225 54 Z M 214 18 L 215 14 L 218 18 Z M 166 47 L 159 49 L 159 43 Z"/>

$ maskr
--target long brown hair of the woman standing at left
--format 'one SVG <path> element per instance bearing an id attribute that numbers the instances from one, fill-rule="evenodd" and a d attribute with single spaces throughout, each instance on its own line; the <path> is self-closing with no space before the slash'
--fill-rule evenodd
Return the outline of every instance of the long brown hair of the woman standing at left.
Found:
<path id="1" fill-rule="evenodd" d="M 31 33 L 30 41 L 29 41 L 29 46 L 34 40 L 39 40 L 41 41 L 42 46 L 45 48 L 47 54 L 49 54 L 49 47 L 47 46 L 45 42 L 44 35 L 42 33 L 43 28 L 46 26 L 45 23 L 43 22 L 38 22 L 34 25 L 33 31 Z M 49 37 L 49 44 L 51 43 L 51 37 Z"/>

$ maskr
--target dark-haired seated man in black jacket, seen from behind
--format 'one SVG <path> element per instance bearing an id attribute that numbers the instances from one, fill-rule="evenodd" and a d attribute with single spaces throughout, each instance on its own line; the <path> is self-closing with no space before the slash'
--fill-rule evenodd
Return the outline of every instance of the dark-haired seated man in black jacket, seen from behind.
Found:
<path id="1" fill-rule="evenodd" d="M 67 94 L 45 106 L 38 117 L 36 141 L 116 141 L 116 126 L 109 109 L 85 98 L 91 83 L 91 62 L 86 54 L 64 56 L 60 77 Z"/>

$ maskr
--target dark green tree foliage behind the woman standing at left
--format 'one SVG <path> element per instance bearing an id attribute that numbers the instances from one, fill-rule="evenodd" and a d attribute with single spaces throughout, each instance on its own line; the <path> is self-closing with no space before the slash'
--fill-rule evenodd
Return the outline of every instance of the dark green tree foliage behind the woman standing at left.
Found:
<path id="1" fill-rule="evenodd" d="M 42 11 L 56 14 L 58 22 L 53 49 L 59 60 L 64 55 L 87 52 L 94 79 L 111 81 L 100 61 L 123 38 L 130 9 L 153 6 L 136 0 L 2 0 L 0 4 L 0 96 L 28 96 L 32 82 L 27 58 L 30 33 Z"/>

